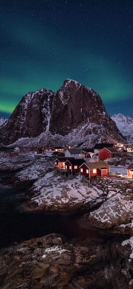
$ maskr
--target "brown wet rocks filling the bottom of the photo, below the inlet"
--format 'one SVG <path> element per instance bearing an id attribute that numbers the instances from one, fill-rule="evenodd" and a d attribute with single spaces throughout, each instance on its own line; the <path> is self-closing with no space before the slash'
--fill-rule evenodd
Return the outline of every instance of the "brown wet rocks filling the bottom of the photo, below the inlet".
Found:
<path id="1" fill-rule="evenodd" d="M 63 244 L 50 234 L 0 251 L 3 289 L 132 289 L 133 241 Z"/>

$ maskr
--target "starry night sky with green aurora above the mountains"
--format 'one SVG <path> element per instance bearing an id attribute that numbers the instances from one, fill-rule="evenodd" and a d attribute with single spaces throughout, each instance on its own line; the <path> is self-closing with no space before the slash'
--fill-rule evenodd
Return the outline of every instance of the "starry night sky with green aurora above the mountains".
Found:
<path id="1" fill-rule="evenodd" d="M 133 117 L 132 0 L 4 0 L 0 117 L 66 78 L 93 88 L 110 115 Z"/>

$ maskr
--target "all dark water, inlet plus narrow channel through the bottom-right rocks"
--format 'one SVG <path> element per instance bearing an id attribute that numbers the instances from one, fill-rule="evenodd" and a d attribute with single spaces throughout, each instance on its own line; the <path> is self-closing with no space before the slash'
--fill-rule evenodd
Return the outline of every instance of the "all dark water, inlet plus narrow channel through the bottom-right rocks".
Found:
<path id="1" fill-rule="evenodd" d="M 0 178 L 10 177 L 10 173 L 0 174 Z M 25 212 L 20 204 L 26 201 L 24 192 L 29 186 L 4 186 L 0 184 L 0 248 L 50 233 L 61 234 L 64 242 L 89 246 L 94 251 L 105 249 L 98 263 L 76 273 L 77 276 L 94 273 L 92 284 L 84 288 L 116 289 L 113 281 L 113 260 L 110 248 L 113 242 L 123 241 L 125 235 L 112 234 L 109 230 L 95 227 L 80 228 L 78 220 L 85 212 Z M 106 250 L 107 249 L 107 250 Z M 102 275 L 97 277 L 97 272 Z M 95 275 L 96 273 L 96 275 Z"/>

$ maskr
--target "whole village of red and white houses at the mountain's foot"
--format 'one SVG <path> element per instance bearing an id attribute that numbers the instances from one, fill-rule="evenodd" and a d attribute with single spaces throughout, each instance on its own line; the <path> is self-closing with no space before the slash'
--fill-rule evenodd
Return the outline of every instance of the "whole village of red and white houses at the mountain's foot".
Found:
<path id="1" fill-rule="evenodd" d="M 133 147 L 114 143 L 96 143 L 93 148 L 72 148 L 50 146 L 37 148 L 5 148 L 0 157 L 23 160 L 29 157 L 32 160 L 50 160 L 53 171 L 63 180 L 70 180 L 80 176 L 80 180 L 90 186 L 95 177 L 125 179 L 133 181 Z M 128 166 L 111 166 L 110 160 L 128 160 Z M 109 160 L 109 162 L 108 162 Z"/>

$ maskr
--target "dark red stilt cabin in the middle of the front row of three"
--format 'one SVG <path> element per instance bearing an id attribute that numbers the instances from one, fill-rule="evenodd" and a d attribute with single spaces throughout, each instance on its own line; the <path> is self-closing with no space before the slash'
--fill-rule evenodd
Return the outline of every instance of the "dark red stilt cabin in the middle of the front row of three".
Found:
<path id="1" fill-rule="evenodd" d="M 70 159 L 65 162 L 65 169 L 68 172 L 80 172 L 81 164 L 85 163 L 86 161 L 83 159 Z"/>

